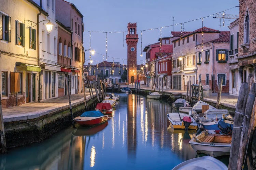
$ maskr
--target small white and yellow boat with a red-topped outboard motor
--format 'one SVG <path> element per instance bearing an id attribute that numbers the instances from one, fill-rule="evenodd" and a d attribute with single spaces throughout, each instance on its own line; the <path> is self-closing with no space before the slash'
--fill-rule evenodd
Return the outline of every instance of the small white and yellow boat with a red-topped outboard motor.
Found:
<path id="1" fill-rule="evenodd" d="M 169 113 L 167 118 L 173 129 L 198 129 L 196 121 L 185 113 Z"/>

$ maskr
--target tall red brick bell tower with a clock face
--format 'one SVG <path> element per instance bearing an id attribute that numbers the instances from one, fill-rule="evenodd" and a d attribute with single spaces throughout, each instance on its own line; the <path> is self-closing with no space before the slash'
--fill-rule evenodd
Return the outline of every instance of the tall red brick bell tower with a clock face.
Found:
<path id="1" fill-rule="evenodd" d="M 138 80 L 137 75 L 137 43 L 138 43 L 138 34 L 136 32 L 137 23 L 128 23 L 126 35 L 126 44 L 127 44 L 127 80 L 129 83 L 134 83 L 135 80 Z"/>

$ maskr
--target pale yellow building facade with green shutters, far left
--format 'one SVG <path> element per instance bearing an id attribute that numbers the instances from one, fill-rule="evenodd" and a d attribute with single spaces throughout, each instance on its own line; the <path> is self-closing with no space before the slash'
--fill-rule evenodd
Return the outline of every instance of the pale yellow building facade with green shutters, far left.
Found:
<path id="1" fill-rule="evenodd" d="M 22 10 L 13 9 L 26 9 Z M 0 6 L 0 84 L 2 107 L 37 101 L 39 5 L 30 0 L 3 0 Z M 45 27 L 45 26 L 44 26 Z"/>

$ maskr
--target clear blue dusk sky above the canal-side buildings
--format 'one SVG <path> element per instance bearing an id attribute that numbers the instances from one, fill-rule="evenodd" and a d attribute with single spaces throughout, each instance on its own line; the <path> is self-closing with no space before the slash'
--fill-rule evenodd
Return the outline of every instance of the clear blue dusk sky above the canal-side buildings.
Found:
<path id="1" fill-rule="evenodd" d="M 137 30 L 160 28 L 189 20 L 202 18 L 229 8 L 239 6 L 238 0 L 69 0 L 83 14 L 85 31 L 127 31 L 128 22 L 137 22 Z M 239 15 L 239 8 L 235 7 L 225 11 L 225 14 Z M 234 21 L 226 19 L 221 31 L 229 30 L 227 26 Z M 223 19 L 221 20 L 221 24 Z M 203 26 L 219 30 L 219 19 L 213 16 L 204 18 Z M 202 27 L 202 20 L 185 23 L 184 31 L 194 31 Z M 169 37 L 171 31 L 180 31 L 181 25 L 162 28 L 162 37 Z M 124 36 L 126 36 L 125 33 Z M 137 44 L 137 64 L 145 63 L 145 52 L 141 57 L 141 33 Z M 158 42 L 160 29 L 142 32 L 142 50 L 149 44 Z M 84 32 L 84 48 L 89 49 L 89 32 Z M 91 33 L 91 48 L 96 53 L 92 56 L 93 64 L 105 60 L 106 34 Z M 123 33 L 108 33 L 108 56 L 114 57 L 114 62 L 127 63 L 127 44 L 123 43 Z M 107 58 L 113 62 L 113 58 Z M 85 59 L 89 58 L 89 52 L 85 53 Z M 122 58 L 120 60 L 117 58 Z M 85 62 L 87 65 L 87 62 Z"/>

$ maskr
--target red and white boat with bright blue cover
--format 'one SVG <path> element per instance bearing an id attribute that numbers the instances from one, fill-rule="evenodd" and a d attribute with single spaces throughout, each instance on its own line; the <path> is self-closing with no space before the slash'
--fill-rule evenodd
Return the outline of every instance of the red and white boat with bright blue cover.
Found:
<path id="1" fill-rule="evenodd" d="M 107 115 L 103 115 L 100 111 L 88 111 L 74 118 L 74 121 L 82 126 L 93 126 L 107 121 L 108 118 Z"/>

